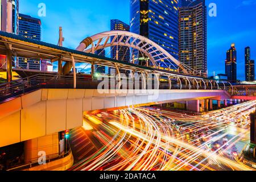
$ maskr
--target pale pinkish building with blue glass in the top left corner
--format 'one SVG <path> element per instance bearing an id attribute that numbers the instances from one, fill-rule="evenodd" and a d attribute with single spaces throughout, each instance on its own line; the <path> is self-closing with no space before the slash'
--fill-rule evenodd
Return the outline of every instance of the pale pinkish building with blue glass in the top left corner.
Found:
<path id="1" fill-rule="evenodd" d="M 18 34 L 19 1 L 2 0 L 0 13 L 0 30 Z"/>

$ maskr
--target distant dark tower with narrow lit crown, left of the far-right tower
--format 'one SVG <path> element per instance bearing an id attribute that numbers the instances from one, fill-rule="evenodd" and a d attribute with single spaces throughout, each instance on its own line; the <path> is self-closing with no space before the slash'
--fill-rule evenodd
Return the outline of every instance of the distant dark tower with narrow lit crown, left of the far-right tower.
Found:
<path id="1" fill-rule="evenodd" d="M 237 49 L 235 44 L 226 52 L 226 75 L 230 82 L 237 82 Z"/>

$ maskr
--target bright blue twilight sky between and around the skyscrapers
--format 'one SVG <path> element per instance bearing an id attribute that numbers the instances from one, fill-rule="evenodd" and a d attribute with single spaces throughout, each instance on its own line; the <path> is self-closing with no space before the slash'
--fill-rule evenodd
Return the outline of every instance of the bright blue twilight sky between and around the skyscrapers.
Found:
<path id="1" fill-rule="evenodd" d="M 46 16 L 38 17 L 39 3 Z M 256 60 L 256 0 L 206 0 L 216 3 L 217 17 L 208 16 L 208 73 L 225 73 L 226 51 L 236 43 L 238 79 L 245 80 L 244 48 Z M 20 13 L 42 20 L 42 41 L 57 44 L 63 27 L 64 47 L 76 48 L 82 39 L 110 30 L 110 19 L 129 24 L 130 0 L 20 0 Z"/>

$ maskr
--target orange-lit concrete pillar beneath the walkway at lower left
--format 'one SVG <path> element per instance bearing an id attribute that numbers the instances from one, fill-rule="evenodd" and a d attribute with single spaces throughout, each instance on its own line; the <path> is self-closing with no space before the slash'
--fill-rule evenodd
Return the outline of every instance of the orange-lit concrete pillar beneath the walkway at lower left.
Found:
<path id="1" fill-rule="evenodd" d="M 24 142 L 24 160 L 30 163 L 38 160 L 45 153 L 47 156 L 59 155 L 59 134 L 51 134 Z"/>

